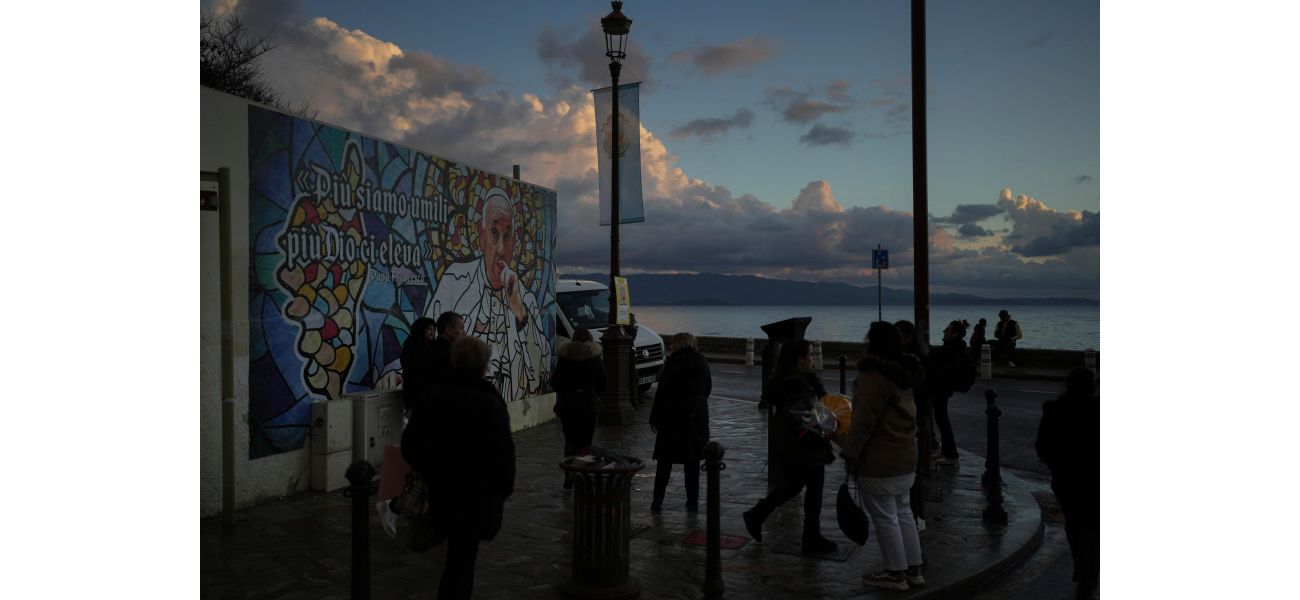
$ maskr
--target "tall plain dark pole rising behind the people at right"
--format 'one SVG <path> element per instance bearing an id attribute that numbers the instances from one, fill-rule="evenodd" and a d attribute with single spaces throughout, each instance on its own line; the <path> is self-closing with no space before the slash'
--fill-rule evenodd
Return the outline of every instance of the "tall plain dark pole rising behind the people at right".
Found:
<path id="1" fill-rule="evenodd" d="M 930 217 L 926 173 L 926 0 L 911 0 L 911 222 L 916 335 L 930 343 Z"/>

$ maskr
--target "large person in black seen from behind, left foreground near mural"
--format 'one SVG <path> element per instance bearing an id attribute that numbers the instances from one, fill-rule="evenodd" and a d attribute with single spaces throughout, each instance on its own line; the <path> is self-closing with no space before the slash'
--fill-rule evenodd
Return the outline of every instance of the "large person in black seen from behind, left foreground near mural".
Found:
<path id="1" fill-rule="evenodd" d="M 500 531 L 515 491 L 515 442 L 506 400 L 485 377 L 486 343 L 468 335 L 451 345 L 451 377 L 402 434 L 402 457 L 429 486 L 432 518 L 447 535 L 438 599 L 473 596 L 478 543 Z"/>

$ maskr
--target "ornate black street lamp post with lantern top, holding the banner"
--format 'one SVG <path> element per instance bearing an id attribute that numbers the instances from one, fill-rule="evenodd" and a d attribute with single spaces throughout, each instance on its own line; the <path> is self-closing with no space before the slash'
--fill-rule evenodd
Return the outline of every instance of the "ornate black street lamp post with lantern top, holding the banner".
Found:
<path id="1" fill-rule="evenodd" d="M 632 386 L 629 381 L 632 371 L 632 344 L 633 340 L 623 332 L 618 323 L 618 286 L 615 278 L 619 277 L 619 71 L 623 70 L 623 58 L 627 55 L 628 32 L 632 30 L 632 19 L 621 12 L 623 3 L 610 3 L 614 10 L 601 19 L 601 29 L 604 30 L 604 56 L 610 58 L 610 79 L 612 79 L 611 112 L 610 112 L 610 138 L 602 144 L 610 147 L 610 318 L 608 327 L 601 335 L 601 345 L 604 353 L 606 386 L 604 401 L 601 403 L 599 422 L 602 425 L 630 425 L 632 414 Z M 627 135 L 636 135 L 629 132 Z"/>

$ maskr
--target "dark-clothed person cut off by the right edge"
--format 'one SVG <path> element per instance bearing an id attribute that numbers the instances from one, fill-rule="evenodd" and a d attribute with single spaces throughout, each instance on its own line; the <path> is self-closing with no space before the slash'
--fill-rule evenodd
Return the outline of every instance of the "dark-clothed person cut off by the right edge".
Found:
<path id="1" fill-rule="evenodd" d="M 1089 369 L 1066 375 L 1065 395 L 1043 403 L 1034 449 L 1052 470 L 1052 492 L 1065 514 L 1078 597 L 1093 597 L 1101 579 L 1101 412 Z"/>

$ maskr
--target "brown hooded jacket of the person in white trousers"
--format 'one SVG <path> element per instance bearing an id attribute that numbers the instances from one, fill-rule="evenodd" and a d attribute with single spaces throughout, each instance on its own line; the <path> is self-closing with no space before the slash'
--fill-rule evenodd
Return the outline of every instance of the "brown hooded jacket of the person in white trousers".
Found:
<path id="1" fill-rule="evenodd" d="M 892 477 L 916 470 L 915 364 L 867 355 L 853 383 L 853 421 L 840 452 L 854 473 Z"/>

